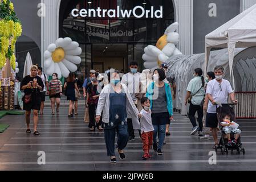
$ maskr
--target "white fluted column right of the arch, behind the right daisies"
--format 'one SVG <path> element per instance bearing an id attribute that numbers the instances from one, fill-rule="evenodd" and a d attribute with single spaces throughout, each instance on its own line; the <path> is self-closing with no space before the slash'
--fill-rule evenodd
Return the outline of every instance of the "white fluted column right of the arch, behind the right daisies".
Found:
<path id="1" fill-rule="evenodd" d="M 177 47 L 184 55 L 193 53 L 193 0 L 174 0 L 180 42 Z"/>

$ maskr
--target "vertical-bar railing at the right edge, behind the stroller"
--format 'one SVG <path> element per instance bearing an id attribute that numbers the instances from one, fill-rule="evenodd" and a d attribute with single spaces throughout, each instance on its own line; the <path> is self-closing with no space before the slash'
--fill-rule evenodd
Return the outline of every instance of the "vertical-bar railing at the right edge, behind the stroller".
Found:
<path id="1" fill-rule="evenodd" d="M 256 118 L 256 92 L 235 92 L 235 98 L 238 101 L 234 107 L 237 118 Z"/>

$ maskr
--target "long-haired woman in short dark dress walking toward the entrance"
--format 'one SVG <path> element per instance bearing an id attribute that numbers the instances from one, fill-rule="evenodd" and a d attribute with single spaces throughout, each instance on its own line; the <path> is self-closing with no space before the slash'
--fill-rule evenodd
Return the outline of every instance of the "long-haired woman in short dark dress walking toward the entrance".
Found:
<path id="1" fill-rule="evenodd" d="M 70 73 L 68 75 L 67 82 L 65 82 L 64 84 L 64 89 L 66 89 L 67 101 L 70 102 L 70 106 L 68 108 L 68 118 L 72 118 L 74 117 L 74 115 L 72 114 L 72 109 L 73 109 L 74 102 L 76 101 L 75 89 L 76 89 L 76 92 L 78 92 L 78 96 L 80 97 L 80 93 L 79 93 L 78 85 L 76 84 L 76 81 L 75 81 L 74 73 Z"/>

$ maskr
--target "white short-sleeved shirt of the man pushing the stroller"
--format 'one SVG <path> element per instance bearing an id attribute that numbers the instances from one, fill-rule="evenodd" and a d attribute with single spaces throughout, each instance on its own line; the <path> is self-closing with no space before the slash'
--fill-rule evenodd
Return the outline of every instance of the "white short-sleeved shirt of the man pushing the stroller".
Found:
<path id="1" fill-rule="evenodd" d="M 214 79 L 207 84 L 206 94 L 210 94 L 214 101 L 221 102 L 221 104 L 227 104 L 227 98 L 233 92 L 234 90 L 231 88 L 230 82 L 224 79 L 222 79 L 221 83 Z M 216 106 L 212 102 L 208 103 L 207 112 L 216 113 Z"/>

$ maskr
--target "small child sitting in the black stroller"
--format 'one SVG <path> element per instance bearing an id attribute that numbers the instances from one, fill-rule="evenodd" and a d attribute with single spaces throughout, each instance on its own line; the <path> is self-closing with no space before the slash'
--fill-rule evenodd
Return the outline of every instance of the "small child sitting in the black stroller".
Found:
<path id="1" fill-rule="evenodd" d="M 240 137 L 241 130 L 239 130 L 237 127 L 231 127 L 231 125 L 235 125 L 233 121 L 230 121 L 230 115 L 225 114 L 222 118 L 221 126 L 223 126 L 223 131 L 225 133 L 225 137 L 227 138 L 227 146 L 232 146 L 232 144 L 237 144 L 237 140 Z M 234 133 L 235 139 L 231 141 L 230 133 Z"/>

